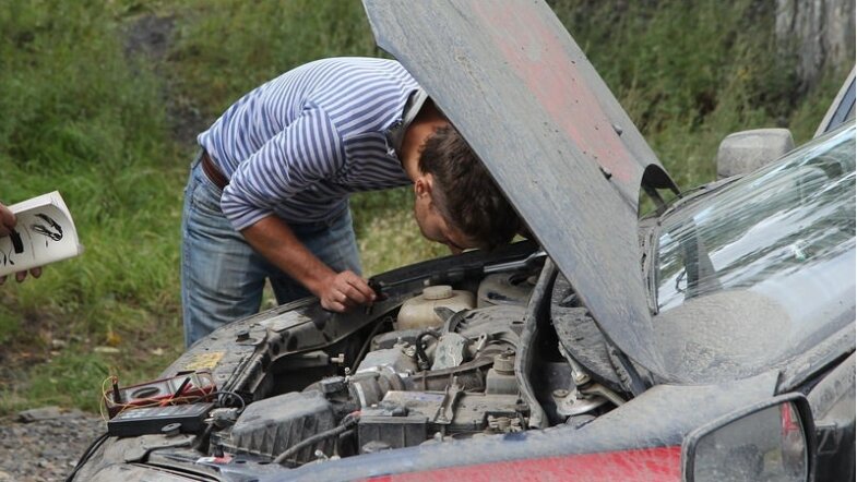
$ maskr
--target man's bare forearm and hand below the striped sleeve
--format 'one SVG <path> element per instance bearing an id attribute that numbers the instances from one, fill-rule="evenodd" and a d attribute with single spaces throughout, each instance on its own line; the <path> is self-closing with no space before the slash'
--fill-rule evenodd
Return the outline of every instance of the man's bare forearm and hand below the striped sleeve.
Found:
<path id="1" fill-rule="evenodd" d="M 350 270 L 331 269 L 278 217 L 262 218 L 241 234 L 255 251 L 319 297 L 325 310 L 344 312 L 374 301 L 374 291 L 365 279 Z"/>

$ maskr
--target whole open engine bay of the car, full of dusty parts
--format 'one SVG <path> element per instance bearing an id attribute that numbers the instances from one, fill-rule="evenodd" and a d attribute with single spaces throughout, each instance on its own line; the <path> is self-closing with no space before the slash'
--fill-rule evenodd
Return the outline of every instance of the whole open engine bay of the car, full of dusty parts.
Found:
<path id="1" fill-rule="evenodd" d="M 370 282 L 372 306 L 282 305 L 217 329 L 162 379 L 115 384 L 108 434 L 160 467 L 282 470 L 580 427 L 645 389 L 533 242 Z M 150 457 L 152 436 L 172 455 Z"/>

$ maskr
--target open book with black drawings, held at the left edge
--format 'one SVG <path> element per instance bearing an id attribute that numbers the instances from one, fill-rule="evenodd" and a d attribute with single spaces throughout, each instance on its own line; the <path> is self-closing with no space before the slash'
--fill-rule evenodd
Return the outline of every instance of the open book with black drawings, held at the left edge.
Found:
<path id="1" fill-rule="evenodd" d="M 83 252 L 71 213 L 57 191 L 13 204 L 14 231 L 0 237 L 0 276 L 44 266 Z"/>

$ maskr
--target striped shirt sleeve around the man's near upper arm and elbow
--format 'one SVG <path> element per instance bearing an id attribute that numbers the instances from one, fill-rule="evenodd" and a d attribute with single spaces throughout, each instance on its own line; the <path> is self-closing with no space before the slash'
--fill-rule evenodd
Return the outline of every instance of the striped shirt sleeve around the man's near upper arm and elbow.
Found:
<path id="1" fill-rule="evenodd" d="M 319 106 L 308 104 L 300 116 L 271 137 L 233 173 L 221 207 L 240 231 L 270 216 L 274 207 L 344 167 L 340 134 Z"/>

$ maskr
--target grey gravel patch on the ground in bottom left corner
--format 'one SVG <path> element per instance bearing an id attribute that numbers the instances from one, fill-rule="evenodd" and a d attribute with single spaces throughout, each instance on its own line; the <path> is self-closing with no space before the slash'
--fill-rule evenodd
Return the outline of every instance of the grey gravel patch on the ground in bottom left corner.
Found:
<path id="1" fill-rule="evenodd" d="M 56 407 L 0 418 L 0 482 L 63 481 L 105 430 L 99 415 Z"/>

